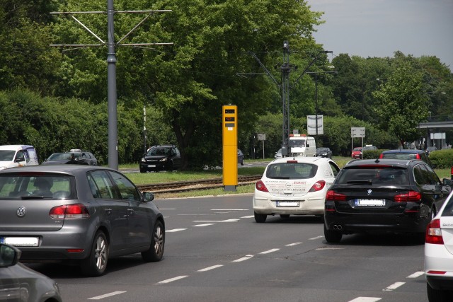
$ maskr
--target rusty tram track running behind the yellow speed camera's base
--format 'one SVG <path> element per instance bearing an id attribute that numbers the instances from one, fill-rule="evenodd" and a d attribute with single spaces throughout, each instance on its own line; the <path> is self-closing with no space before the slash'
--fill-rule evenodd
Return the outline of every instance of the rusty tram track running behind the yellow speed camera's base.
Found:
<path id="1" fill-rule="evenodd" d="M 249 185 L 260 180 L 261 175 L 239 176 L 238 185 Z M 207 190 L 217 187 L 223 187 L 222 178 L 212 178 L 207 180 L 188 180 L 182 182 L 156 183 L 152 185 L 137 185 L 141 191 L 150 191 L 153 193 L 176 193 L 193 190 Z"/>

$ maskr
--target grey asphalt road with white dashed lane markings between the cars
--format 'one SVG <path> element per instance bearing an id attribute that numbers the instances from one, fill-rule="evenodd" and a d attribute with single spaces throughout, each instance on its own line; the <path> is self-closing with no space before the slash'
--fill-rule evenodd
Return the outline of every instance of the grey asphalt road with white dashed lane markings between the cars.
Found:
<path id="1" fill-rule="evenodd" d="M 314 216 L 253 219 L 251 195 L 156 200 L 166 221 L 161 262 L 110 260 L 107 274 L 30 265 L 72 301 L 427 301 L 423 244 L 343 236 L 329 245 Z"/>

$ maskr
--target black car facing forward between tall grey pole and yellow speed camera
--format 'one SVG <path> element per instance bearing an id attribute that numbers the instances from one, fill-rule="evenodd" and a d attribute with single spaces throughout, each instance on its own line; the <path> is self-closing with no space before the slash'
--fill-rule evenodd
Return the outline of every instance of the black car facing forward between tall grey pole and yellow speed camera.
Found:
<path id="1" fill-rule="evenodd" d="M 139 163 L 140 173 L 173 171 L 181 167 L 181 155 L 175 145 L 157 145 L 144 153 Z"/>

